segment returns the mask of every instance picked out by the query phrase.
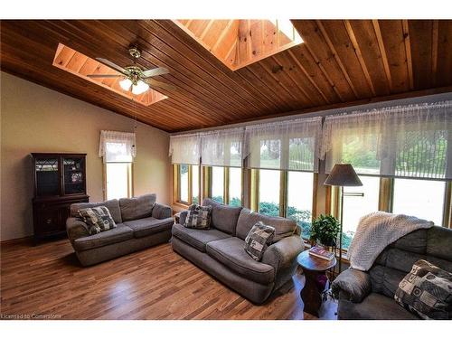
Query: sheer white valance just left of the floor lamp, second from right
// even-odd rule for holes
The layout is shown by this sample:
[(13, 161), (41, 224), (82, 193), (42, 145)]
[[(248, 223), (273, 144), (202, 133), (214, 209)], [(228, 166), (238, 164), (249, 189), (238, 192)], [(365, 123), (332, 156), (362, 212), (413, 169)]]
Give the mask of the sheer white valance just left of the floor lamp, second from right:
[(246, 127), (249, 168), (318, 172), (322, 118), (298, 118)]

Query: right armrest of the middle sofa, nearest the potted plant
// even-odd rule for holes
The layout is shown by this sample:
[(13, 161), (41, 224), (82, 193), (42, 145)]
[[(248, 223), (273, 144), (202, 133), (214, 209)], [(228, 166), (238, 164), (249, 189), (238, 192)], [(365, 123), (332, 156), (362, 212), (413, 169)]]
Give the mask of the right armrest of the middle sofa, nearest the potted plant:
[(294, 265), (298, 254), (303, 250), (305, 250), (303, 240), (298, 235), (292, 235), (268, 246), (262, 257), (262, 262), (275, 268), (277, 274), (281, 268)]

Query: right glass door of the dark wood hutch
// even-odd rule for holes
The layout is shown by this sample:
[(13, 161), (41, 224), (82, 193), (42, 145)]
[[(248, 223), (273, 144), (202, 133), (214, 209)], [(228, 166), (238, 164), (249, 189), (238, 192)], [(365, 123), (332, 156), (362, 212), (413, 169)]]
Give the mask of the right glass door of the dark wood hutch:
[(85, 160), (82, 157), (62, 158), (64, 194), (85, 192), (84, 166)]

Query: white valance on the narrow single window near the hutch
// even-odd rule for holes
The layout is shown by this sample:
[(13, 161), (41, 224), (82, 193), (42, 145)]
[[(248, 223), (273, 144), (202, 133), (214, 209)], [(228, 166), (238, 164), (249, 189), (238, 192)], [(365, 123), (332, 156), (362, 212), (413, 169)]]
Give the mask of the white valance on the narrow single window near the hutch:
[(136, 155), (135, 133), (100, 131), (99, 156), (104, 163), (132, 163)]

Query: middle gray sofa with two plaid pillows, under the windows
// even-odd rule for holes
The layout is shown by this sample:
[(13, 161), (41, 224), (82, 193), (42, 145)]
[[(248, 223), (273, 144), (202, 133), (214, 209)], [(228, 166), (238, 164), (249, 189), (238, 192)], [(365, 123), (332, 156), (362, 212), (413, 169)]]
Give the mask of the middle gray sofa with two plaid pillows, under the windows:
[[(204, 199), (202, 204), (212, 206), (211, 229), (185, 228), (187, 212), (181, 212), (180, 223), (173, 226), (174, 251), (255, 304), (266, 301), (292, 278), (297, 255), (304, 250), (296, 221), (226, 206), (211, 199)], [(257, 221), (276, 229), (273, 243), (261, 261), (251, 259), (244, 250), (244, 240)]]

